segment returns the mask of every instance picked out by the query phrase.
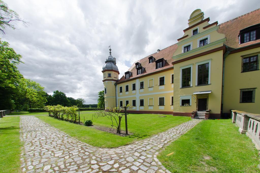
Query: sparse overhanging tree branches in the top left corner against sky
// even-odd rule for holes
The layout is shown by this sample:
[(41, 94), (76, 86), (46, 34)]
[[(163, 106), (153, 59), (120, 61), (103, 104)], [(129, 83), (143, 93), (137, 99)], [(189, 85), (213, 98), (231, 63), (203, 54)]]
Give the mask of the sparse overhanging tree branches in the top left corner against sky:
[(20, 18), (20, 16), (13, 10), (9, 9), (7, 4), (0, 0), (0, 32), (5, 34), (5, 28), (9, 27), (16, 29), (17, 22), (22, 22), (25, 25), (28, 23)]

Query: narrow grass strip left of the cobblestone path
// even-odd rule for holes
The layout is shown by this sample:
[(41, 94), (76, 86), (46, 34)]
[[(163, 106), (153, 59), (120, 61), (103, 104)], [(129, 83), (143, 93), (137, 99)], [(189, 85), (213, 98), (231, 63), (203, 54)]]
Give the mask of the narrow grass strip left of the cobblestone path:
[(20, 117), (0, 119), (0, 172), (20, 172)]

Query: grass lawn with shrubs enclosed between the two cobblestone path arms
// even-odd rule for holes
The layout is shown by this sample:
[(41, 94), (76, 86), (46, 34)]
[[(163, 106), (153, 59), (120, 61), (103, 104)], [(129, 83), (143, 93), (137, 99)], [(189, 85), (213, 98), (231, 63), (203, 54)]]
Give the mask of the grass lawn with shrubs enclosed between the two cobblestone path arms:
[[(81, 120), (92, 119), (92, 113), (81, 114)], [(55, 119), (50, 116), (37, 116), (37, 118), (47, 122), (72, 137), (86, 142), (92, 146), (113, 148), (133, 143), (136, 140), (145, 139), (154, 134), (163, 132), (169, 128), (177, 126), (183, 122), (189, 121), (190, 117), (166, 115), (166, 117), (158, 117), (155, 114), (129, 114), (128, 132), (133, 133), (126, 137), (118, 136), (108, 132), (96, 130), (91, 127), (80, 126), (78, 124)], [(111, 120), (107, 117), (99, 117), (93, 119), (93, 124), (99, 126), (111, 127)], [(125, 130), (125, 119), (122, 118), (122, 130)]]

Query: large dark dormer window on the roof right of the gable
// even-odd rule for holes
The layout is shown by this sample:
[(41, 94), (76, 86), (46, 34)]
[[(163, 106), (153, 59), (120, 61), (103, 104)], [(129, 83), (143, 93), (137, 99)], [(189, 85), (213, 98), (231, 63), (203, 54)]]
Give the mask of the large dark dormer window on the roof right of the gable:
[(260, 39), (260, 24), (247, 27), (239, 33), (240, 44)]

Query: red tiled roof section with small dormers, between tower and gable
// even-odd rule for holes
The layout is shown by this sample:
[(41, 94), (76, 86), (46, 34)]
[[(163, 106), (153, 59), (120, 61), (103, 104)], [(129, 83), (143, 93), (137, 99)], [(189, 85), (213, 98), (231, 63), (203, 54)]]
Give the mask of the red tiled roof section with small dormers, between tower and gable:
[[(172, 55), (176, 51), (177, 47), (178, 47), (177, 44), (171, 45), (169, 47), (166, 47), (165, 49), (160, 50), (159, 52), (153, 53), (153, 54), (151, 54), (151, 55), (149, 55), (149, 56), (147, 56), (143, 59), (140, 59), (139, 61), (136, 61), (135, 63), (139, 62), (141, 64), (141, 66), (145, 68), (143, 73), (137, 75), (137, 71), (136, 71), (135, 63), (134, 63), (132, 65), (132, 67), (130, 67), (129, 70), (128, 70), (128, 71), (132, 72), (132, 75), (130, 76), (130, 78), (125, 79), (125, 75), (123, 75), (121, 77), (121, 79), (119, 79), (116, 83), (118, 84), (118, 83), (121, 83), (123, 81), (128, 81), (128, 80), (131, 80), (131, 79), (136, 78), (136, 77), (144, 76), (144, 75), (149, 74), (149, 73), (162, 71), (162, 70), (165, 70), (167, 68), (173, 67), (173, 65), (172, 65), (172, 62), (173, 62)], [(152, 63), (149, 63), (149, 57), (151, 57), (151, 56), (153, 56), (155, 58), (155, 60)], [(166, 60), (164, 67), (155, 69), (155, 61), (158, 60), (158, 59), (161, 59), (161, 58), (164, 58), (164, 60)]]

